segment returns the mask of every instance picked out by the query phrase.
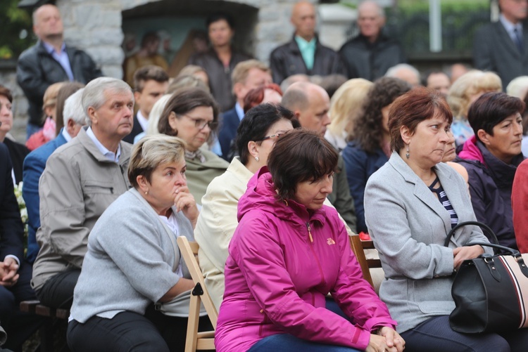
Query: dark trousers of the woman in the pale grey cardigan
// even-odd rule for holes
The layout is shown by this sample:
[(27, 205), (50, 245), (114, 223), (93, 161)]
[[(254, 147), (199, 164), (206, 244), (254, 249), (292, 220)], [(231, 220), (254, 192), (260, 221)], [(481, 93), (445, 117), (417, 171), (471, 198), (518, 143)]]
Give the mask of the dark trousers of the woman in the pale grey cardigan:
[[(213, 330), (207, 316), (200, 318), (199, 331)], [(68, 346), (73, 352), (159, 351), (183, 352), (187, 318), (171, 317), (147, 308), (145, 315), (118, 313), (112, 319), (89, 318), (84, 324), (68, 324)]]

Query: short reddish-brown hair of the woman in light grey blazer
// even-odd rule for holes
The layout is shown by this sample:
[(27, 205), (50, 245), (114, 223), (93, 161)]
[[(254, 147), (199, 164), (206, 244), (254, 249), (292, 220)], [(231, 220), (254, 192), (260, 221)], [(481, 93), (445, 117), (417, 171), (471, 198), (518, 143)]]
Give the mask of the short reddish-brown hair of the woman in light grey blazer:
[(444, 96), (435, 89), (417, 87), (394, 100), (389, 111), (389, 133), (391, 133), (391, 149), (399, 152), (405, 145), (400, 129), (406, 126), (410, 133), (416, 131), (416, 126), (426, 119), (438, 116), (453, 122), (453, 114)]

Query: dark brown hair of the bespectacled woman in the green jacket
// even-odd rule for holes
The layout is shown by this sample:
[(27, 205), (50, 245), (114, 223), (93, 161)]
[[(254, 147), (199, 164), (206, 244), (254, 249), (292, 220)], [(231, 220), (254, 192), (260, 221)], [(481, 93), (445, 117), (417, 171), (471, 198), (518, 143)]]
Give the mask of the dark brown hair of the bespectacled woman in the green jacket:
[[(218, 122), (218, 105), (216, 105), (215, 99), (210, 93), (200, 88), (189, 88), (184, 90), (178, 90), (172, 94), (165, 109), (161, 113), (160, 122), (158, 122), (158, 131), (168, 136), (177, 136), (177, 129), (172, 129), (169, 123), (170, 112), (176, 114), (177, 119), (181, 119), (182, 115), (193, 110), (196, 107), (210, 106), (213, 107), (213, 122)], [(216, 133), (218, 130), (218, 124), (215, 129), (211, 129), (210, 136)]]

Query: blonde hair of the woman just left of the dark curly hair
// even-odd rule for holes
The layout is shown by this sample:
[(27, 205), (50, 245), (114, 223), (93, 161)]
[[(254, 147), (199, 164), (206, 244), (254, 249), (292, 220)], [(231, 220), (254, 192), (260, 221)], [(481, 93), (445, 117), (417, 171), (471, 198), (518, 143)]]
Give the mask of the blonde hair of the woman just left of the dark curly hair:
[(363, 102), (372, 86), (372, 82), (363, 78), (348, 79), (330, 99), (329, 116), (332, 122), (328, 126), (330, 133), (339, 136), (342, 131), (350, 133), (353, 119), (361, 111)]

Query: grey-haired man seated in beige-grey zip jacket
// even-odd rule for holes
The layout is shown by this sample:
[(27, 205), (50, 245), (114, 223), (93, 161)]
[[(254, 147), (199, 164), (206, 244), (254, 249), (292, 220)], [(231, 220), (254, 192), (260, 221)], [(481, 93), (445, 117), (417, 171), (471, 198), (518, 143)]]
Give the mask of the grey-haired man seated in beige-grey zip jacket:
[(40, 251), (32, 287), (43, 304), (69, 308), (90, 230), (103, 211), (130, 188), (127, 167), (134, 96), (120, 79), (87, 84), (82, 108), (91, 126), (49, 157), (39, 181)]

